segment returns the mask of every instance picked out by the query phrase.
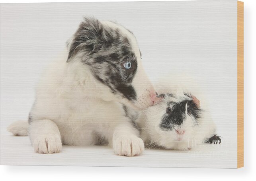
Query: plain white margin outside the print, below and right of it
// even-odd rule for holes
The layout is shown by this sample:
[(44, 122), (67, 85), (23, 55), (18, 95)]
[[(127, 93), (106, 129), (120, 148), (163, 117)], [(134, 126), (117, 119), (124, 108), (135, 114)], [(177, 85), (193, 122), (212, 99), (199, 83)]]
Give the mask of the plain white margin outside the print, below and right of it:
[[(252, 3), (250, 5), (250, 3)], [(30, 166), (1, 166), (1, 177), (4, 175), (12, 175), (10, 177), (16, 177), (16, 179), (24, 179), (28, 180), (28, 177), (34, 175), (34, 178), (37, 180), (45, 180), (54, 177), (54, 179), (59, 179), (59, 177), (63, 177), (65, 179), (74, 179), (74, 177), (78, 176), (76, 179), (94, 179), (95, 177), (102, 177), (102, 179), (106, 179), (106, 176), (109, 175), (113, 179), (114, 177), (121, 177), (120, 179), (131, 180), (131, 179), (145, 179), (145, 177), (149, 177), (150, 179), (184, 179), (183, 177), (187, 177), (186, 179), (195, 178), (199, 180), (199, 178), (207, 179), (207, 180), (215, 180), (216, 177), (220, 177), (222, 179), (245, 179), (245, 177), (252, 175), (252, 165), (254, 163), (254, 155), (251, 150), (255, 150), (255, 146), (253, 143), (252, 132), (253, 127), (255, 127), (255, 123), (252, 120), (252, 113), (254, 111), (254, 102), (255, 97), (252, 95), (255, 91), (255, 87), (253, 87), (253, 76), (255, 76), (255, 71), (253, 68), (255, 67), (255, 63), (253, 62), (253, 47), (252, 43), (255, 43), (255, 35), (252, 34), (255, 31), (255, 27), (253, 27), (253, 19), (255, 20), (255, 12), (253, 8), (255, 4), (253, 1), (245, 1), (244, 4), (244, 145), (245, 145), (245, 167), (242, 169), (174, 169), (174, 168), (120, 168), (120, 167), (30, 167)], [(253, 14), (254, 13), (254, 14)], [(254, 16), (254, 17), (253, 17)], [(255, 45), (254, 45), (255, 46)], [(255, 57), (254, 57), (255, 59)], [(254, 64), (253, 64), (254, 63)], [(253, 125), (254, 124), (254, 125)], [(19, 173), (19, 174), (18, 174)], [(187, 174), (184, 174), (187, 173)], [(24, 175), (20, 175), (24, 174)], [(35, 175), (36, 174), (36, 175)], [(7, 176), (6, 175), (6, 176)], [(16, 175), (16, 176), (14, 176)], [(19, 175), (19, 176), (18, 176)], [(45, 175), (45, 177), (44, 177)], [(196, 175), (196, 177), (195, 177)], [(234, 178), (231, 178), (234, 177)], [(51, 179), (50, 179), (51, 180)]]

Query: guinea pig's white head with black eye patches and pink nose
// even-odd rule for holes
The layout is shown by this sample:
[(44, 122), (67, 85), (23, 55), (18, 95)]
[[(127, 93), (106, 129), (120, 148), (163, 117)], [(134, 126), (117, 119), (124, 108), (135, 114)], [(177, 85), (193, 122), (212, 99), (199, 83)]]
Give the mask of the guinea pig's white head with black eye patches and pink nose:
[(199, 100), (190, 93), (158, 95), (158, 101), (145, 110), (151, 142), (167, 149), (190, 149), (202, 111), (199, 106)]

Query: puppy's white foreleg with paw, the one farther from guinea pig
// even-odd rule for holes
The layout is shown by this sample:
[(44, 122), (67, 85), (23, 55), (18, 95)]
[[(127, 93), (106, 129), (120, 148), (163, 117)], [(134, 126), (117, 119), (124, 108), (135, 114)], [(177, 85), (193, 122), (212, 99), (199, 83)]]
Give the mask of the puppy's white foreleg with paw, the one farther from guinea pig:
[(49, 119), (32, 121), (29, 125), (29, 136), (37, 153), (51, 154), (61, 151), (59, 128)]

